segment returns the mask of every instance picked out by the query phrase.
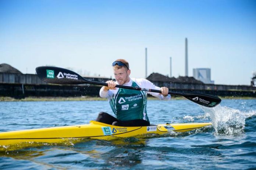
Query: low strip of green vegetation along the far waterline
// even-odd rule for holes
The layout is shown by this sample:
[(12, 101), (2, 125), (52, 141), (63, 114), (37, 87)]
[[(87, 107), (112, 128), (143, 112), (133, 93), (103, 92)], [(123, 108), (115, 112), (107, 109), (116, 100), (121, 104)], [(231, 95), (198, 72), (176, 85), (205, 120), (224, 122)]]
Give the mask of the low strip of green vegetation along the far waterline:
[[(255, 99), (256, 97), (234, 97), (234, 96), (225, 96), (220, 97), (221, 99), (235, 99), (235, 100), (249, 100)], [(0, 97), (0, 101), (103, 101), (107, 100), (106, 98), (101, 97), (90, 97), (90, 96), (81, 96), (81, 97), (25, 97), (25, 98), (13, 98), (13, 97)], [(155, 97), (149, 96), (148, 100), (158, 100)], [(171, 100), (185, 100), (184, 97), (172, 96)]]

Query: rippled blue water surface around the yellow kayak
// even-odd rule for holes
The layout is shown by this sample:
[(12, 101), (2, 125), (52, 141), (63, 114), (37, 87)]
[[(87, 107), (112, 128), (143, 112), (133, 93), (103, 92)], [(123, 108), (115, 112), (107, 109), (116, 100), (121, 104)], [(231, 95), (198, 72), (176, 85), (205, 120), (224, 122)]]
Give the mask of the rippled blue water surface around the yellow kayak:
[[(87, 124), (111, 113), (107, 101), (0, 102), (0, 132)], [(149, 100), (150, 123), (212, 122), (188, 133), (84, 139), (0, 152), (0, 169), (256, 169), (256, 100), (205, 108), (188, 100)]]

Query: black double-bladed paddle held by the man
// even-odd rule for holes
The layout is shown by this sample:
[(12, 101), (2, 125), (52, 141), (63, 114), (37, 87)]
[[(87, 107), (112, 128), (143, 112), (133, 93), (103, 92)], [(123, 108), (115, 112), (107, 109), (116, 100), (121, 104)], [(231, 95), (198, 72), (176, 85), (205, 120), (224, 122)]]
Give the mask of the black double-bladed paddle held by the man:
[[(53, 84), (96, 84), (101, 86), (108, 86), (107, 83), (103, 82), (95, 82), (86, 80), (82, 76), (78, 75), (77, 73), (64, 69), (64, 68), (58, 68), (53, 66), (41, 66), (36, 68), (36, 73), (38, 77), (46, 82), (46, 83), (53, 83)], [(161, 93), (160, 90), (154, 90), (154, 89), (146, 89), (146, 88), (140, 88), (140, 87), (131, 87), (131, 86), (123, 86), (123, 85), (117, 85), (116, 87), (119, 88), (127, 88), (132, 90), (139, 90), (139, 91), (150, 91), (150, 92), (156, 92)], [(209, 108), (212, 108), (218, 104), (220, 104), (221, 99), (208, 94), (190, 94), (190, 93), (178, 93), (169, 91), (168, 94), (171, 95), (178, 95), (185, 97), (186, 99), (195, 102), (199, 105), (206, 106)]]

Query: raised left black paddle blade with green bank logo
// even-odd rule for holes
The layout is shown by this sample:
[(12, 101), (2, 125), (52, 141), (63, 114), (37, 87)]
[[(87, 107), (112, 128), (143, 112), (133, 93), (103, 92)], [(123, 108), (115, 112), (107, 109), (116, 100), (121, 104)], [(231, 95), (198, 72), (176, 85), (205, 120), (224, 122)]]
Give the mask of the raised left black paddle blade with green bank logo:
[(53, 84), (85, 84), (86, 80), (77, 73), (63, 68), (53, 66), (41, 66), (36, 68), (38, 77)]

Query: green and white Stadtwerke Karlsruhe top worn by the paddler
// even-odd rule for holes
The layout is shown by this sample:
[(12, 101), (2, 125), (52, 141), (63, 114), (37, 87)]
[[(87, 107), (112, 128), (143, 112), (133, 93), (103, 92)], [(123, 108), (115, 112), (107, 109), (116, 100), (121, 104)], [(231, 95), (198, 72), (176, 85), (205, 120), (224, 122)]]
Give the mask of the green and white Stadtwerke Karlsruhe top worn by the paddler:
[[(115, 83), (118, 84), (117, 82)], [(155, 86), (153, 83), (146, 79), (131, 78), (128, 83), (123, 85), (161, 90), (160, 87)], [(143, 119), (149, 122), (146, 109), (147, 93), (159, 98), (160, 100), (170, 100), (171, 98), (170, 94), (164, 97), (160, 93), (124, 88), (117, 88), (116, 90), (109, 91), (104, 91), (103, 87), (100, 89), (100, 97), (107, 98), (109, 100), (112, 111), (120, 121)]]

